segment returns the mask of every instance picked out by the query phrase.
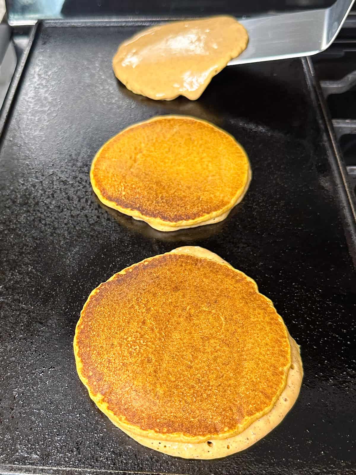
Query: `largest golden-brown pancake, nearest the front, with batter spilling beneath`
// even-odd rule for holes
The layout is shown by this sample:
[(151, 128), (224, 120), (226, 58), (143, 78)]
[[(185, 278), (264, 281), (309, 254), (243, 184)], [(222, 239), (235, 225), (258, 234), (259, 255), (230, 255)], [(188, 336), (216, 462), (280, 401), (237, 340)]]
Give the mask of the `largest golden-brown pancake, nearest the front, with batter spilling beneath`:
[(272, 430), (302, 365), (255, 282), (201, 247), (134, 264), (89, 295), (76, 368), (99, 409), (142, 445), (222, 457)]

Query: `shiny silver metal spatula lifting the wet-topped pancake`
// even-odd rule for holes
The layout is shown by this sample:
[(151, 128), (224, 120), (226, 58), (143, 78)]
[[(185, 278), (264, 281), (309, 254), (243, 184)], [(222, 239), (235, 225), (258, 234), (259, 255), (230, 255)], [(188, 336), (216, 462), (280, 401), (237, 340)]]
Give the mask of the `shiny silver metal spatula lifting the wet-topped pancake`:
[(331, 7), (239, 20), (249, 35), (245, 51), (229, 65), (255, 63), (323, 51), (337, 36), (355, 0), (337, 0)]

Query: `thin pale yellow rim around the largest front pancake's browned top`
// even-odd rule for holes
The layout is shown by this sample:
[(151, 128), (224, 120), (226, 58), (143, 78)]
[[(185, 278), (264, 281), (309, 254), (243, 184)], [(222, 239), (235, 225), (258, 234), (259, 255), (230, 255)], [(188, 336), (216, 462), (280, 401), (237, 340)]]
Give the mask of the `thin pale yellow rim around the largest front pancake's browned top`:
[[(76, 364), (76, 370), (77, 370), (79, 379), (83, 382), (84, 386), (88, 390), (90, 398), (94, 401), (96, 406), (112, 421), (112, 423), (116, 427), (122, 429), (124, 432), (129, 431), (131, 434), (135, 434), (136, 436), (147, 437), (147, 438), (154, 439), (154, 440), (159, 440), (159, 441), (164, 440), (164, 441), (170, 441), (170, 442), (181, 442), (181, 443), (183, 442), (183, 443), (191, 443), (191, 444), (196, 444), (196, 443), (199, 443), (199, 442), (206, 442), (208, 440), (222, 440), (222, 439), (226, 439), (228, 437), (236, 436), (236, 435), (240, 434), (241, 432), (243, 432), (246, 428), (248, 428), (255, 420), (257, 420), (257, 419), (261, 418), (263, 415), (267, 414), (272, 409), (272, 407), (274, 406), (276, 400), (280, 397), (281, 392), (284, 390), (284, 388), (286, 386), (287, 376), (288, 376), (288, 372), (290, 370), (290, 364), (291, 364), (290, 345), (289, 345), (289, 357), (288, 357), (289, 364), (284, 368), (285, 379), (284, 379), (283, 384), (280, 387), (280, 390), (277, 391), (277, 394), (276, 394), (275, 398), (272, 400), (272, 403), (270, 404), (270, 406), (268, 406), (264, 410), (260, 411), (259, 413), (256, 413), (253, 417), (247, 418), (247, 421), (243, 422), (242, 424), (239, 424), (237, 428), (231, 429), (227, 432), (219, 433), (219, 434), (207, 434), (207, 435), (204, 435), (204, 436), (200, 436), (200, 435), (192, 436), (192, 435), (189, 435), (189, 434), (178, 433), (178, 432), (169, 433), (169, 434), (162, 434), (162, 433), (158, 433), (158, 432), (156, 432), (155, 430), (152, 430), (152, 429), (146, 430), (146, 429), (140, 428), (139, 426), (135, 426), (135, 425), (131, 424), (124, 416), (115, 415), (112, 412), (112, 410), (110, 410), (108, 408), (108, 404), (106, 402), (103, 402), (103, 397), (104, 396), (100, 393), (94, 394), (92, 392), (91, 388), (90, 388), (90, 384), (89, 384), (88, 380), (81, 373), (81, 369), (83, 367), (83, 364), (82, 364), (82, 361), (81, 361), (81, 359), (79, 357), (79, 354), (78, 354), (79, 346), (78, 346), (78, 343), (77, 343), (77, 336), (78, 336), (78, 333), (79, 333), (79, 327), (80, 327), (81, 320), (82, 320), (82, 314), (84, 313), (86, 305), (89, 303), (91, 297), (99, 291), (100, 287), (103, 284), (115, 279), (115, 277), (117, 275), (122, 275), (122, 274), (124, 275), (124, 274), (126, 274), (127, 271), (130, 271), (130, 269), (132, 267), (138, 266), (138, 265), (140, 265), (144, 262), (149, 262), (149, 261), (151, 261), (155, 258), (159, 258), (159, 257), (162, 257), (162, 256), (167, 255), (167, 254), (183, 254), (183, 255), (188, 254), (188, 255), (198, 257), (198, 258), (201, 258), (201, 259), (208, 259), (208, 260), (218, 262), (219, 264), (221, 264), (223, 266), (228, 266), (229, 268), (233, 269), (234, 272), (244, 276), (244, 278), (247, 281), (251, 282), (254, 286), (254, 289), (255, 289), (256, 293), (260, 294), (260, 292), (258, 291), (258, 286), (257, 286), (256, 282), (251, 277), (244, 274), (244, 272), (242, 272), (238, 269), (235, 269), (233, 266), (231, 266), (229, 263), (227, 263), (221, 257), (217, 256), (215, 253), (213, 253), (213, 252), (211, 252), (211, 251), (209, 251), (209, 250), (207, 250), (203, 247), (199, 247), (199, 246), (178, 247), (176, 249), (173, 249), (170, 252), (167, 252), (167, 253), (164, 253), (164, 254), (159, 254), (159, 255), (156, 255), (156, 256), (153, 256), (153, 257), (148, 257), (148, 258), (143, 259), (142, 261), (140, 261), (138, 263), (135, 263), (131, 266), (125, 267), (124, 269), (122, 269), (122, 271), (117, 272), (116, 274), (111, 276), (107, 281), (99, 284), (97, 287), (94, 288), (94, 290), (88, 296), (88, 298), (87, 298), (87, 300), (86, 300), (86, 302), (83, 306), (83, 309), (80, 313), (80, 318), (79, 318), (79, 320), (76, 324), (76, 327), (75, 327), (75, 336), (74, 336), (74, 341), (73, 341), (73, 348), (74, 348), (74, 354), (75, 354), (75, 364)], [(260, 295), (262, 295), (262, 294), (260, 294)], [(262, 296), (264, 297), (265, 301), (268, 304), (270, 304), (272, 306), (272, 308), (275, 310), (275, 307), (274, 307), (272, 301), (268, 297), (266, 297), (265, 295), (262, 295)], [(289, 333), (288, 333), (287, 327), (286, 327), (285, 323), (283, 322), (283, 319), (281, 318), (281, 316), (277, 313), (277, 311), (276, 311), (276, 314), (279, 317), (281, 323), (283, 324), (286, 337), (289, 340), (289, 338), (288, 338)]]

